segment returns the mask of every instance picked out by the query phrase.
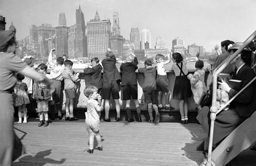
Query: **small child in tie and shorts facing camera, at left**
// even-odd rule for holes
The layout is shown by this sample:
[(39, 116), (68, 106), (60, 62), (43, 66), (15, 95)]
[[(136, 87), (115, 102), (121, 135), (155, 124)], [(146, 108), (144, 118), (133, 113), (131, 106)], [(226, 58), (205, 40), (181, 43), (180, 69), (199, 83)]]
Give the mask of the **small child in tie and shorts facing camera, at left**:
[[(37, 112), (39, 112), (39, 120), (40, 123), (38, 127), (41, 126), (48, 126), (49, 121), (48, 121), (48, 101), (51, 100), (52, 95), (50, 94), (50, 90), (46, 89), (46, 84), (40, 82), (39, 88), (35, 91), (34, 93), (34, 99), (37, 100)], [(45, 122), (43, 121), (43, 115), (45, 118)]]

